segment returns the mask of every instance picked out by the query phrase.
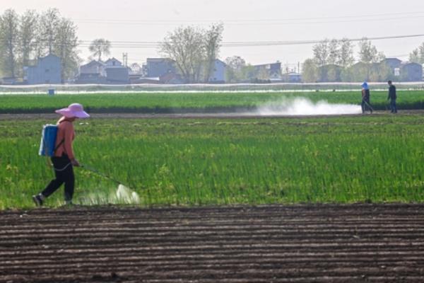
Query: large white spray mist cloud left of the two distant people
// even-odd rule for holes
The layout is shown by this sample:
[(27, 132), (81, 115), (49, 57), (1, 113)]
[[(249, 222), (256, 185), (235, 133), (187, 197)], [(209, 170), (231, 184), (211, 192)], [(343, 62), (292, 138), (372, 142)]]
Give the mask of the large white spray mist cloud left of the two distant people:
[(307, 98), (283, 99), (265, 103), (257, 110), (259, 115), (352, 115), (360, 114), (360, 105), (330, 104), (325, 100), (317, 103)]

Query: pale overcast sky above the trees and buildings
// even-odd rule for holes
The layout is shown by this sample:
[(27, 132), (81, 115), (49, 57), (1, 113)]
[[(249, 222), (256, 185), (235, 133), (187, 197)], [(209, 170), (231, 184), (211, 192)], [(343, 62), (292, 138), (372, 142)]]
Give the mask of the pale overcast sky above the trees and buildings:
[[(423, 0), (0, 0), (0, 11), (13, 8), (39, 12), (59, 8), (78, 25), (80, 40), (103, 37), (112, 42), (112, 56), (129, 63), (158, 57), (157, 48), (134, 48), (119, 41), (159, 42), (179, 25), (223, 22), (223, 42), (324, 40), (324, 38), (387, 37), (424, 33)], [(375, 40), (387, 57), (408, 59), (424, 37)], [(355, 50), (355, 56), (357, 55)], [(251, 64), (297, 64), (312, 57), (312, 45), (223, 47), (220, 59), (232, 55)], [(87, 59), (88, 47), (81, 47)]]

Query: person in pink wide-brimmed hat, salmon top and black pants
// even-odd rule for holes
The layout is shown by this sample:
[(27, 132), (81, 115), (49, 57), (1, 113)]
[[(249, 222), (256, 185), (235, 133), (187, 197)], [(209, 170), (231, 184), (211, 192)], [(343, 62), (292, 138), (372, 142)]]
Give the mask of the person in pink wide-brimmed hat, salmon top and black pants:
[(62, 184), (65, 184), (65, 202), (66, 204), (72, 204), (75, 184), (73, 166), (80, 166), (73, 154), (72, 144), (75, 138), (75, 132), (73, 131), (72, 123), (78, 118), (90, 117), (83, 110), (83, 105), (79, 103), (72, 103), (68, 108), (62, 108), (55, 112), (62, 115), (57, 121), (56, 145), (54, 156), (51, 158), (55, 178), (45, 187), (45, 190), (38, 195), (33, 195), (33, 200), (37, 206), (42, 206), (45, 199), (59, 189)]

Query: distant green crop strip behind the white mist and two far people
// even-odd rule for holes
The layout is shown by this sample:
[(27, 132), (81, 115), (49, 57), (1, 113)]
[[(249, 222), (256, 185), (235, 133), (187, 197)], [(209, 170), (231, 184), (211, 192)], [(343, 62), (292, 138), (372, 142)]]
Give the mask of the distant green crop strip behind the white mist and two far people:
[[(424, 109), (424, 91), (399, 91), (399, 109)], [(293, 93), (107, 93), (3, 95), (0, 113), (53, 112), (71, 103), (82, 103), (88, 112), (196, 112), (250, 110), (270, 102), (308, 98), (313, 102), (359, 105), (360, 91), (352, 92), (293, 92)], [(371, 103), (375, 109), (388, 108), (387, 92), (373, 91)]]

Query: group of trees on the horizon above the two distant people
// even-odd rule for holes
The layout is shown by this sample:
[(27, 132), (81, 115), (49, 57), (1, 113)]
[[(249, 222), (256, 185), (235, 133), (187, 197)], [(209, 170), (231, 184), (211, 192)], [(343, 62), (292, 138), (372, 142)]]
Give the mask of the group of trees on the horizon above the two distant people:
[(389, 67), (379, 64), (385, 58), (370, 40), (358, 43), (359, 64), (355, 64), (353, 42), (348, 39), (324, 40), (312, 48), (314, 57), (306, 59), (302, 68), (305, 82), (316, 81), (383, 81), (391, 76)]

